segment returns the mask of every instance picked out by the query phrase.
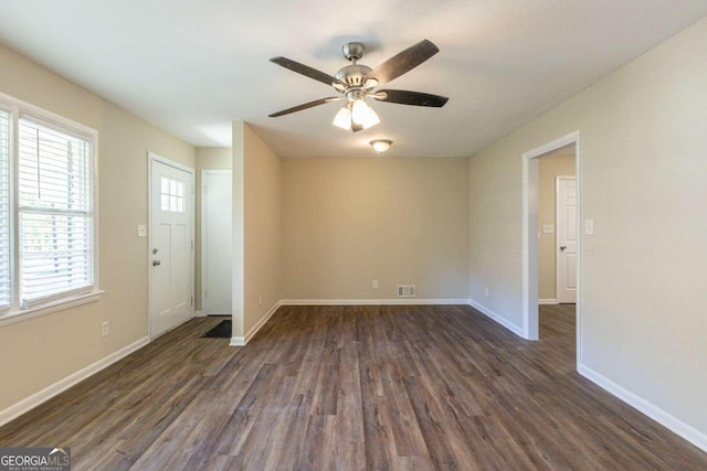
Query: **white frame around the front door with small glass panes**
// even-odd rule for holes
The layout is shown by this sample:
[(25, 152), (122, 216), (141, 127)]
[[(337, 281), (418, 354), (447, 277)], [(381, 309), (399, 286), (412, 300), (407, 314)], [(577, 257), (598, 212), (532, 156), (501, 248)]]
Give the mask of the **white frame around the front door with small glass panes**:
[(152, 306), (152, 290), (151, 290), (151, 277), (150, 277), (150, 247), (152, 246), (152, 162), (159, 162), (165, 165), (173, 167), (175, 169), (182, 170), (191, 175), (191, 318), (194, 317), (194, 169), (187, 167), (182, 163), (175, 162), (166, 157), (159, 156), (155, 152), (147, 152), (147, 335), (150, 340), (152, 336), (151, 325), (151, 306)]

